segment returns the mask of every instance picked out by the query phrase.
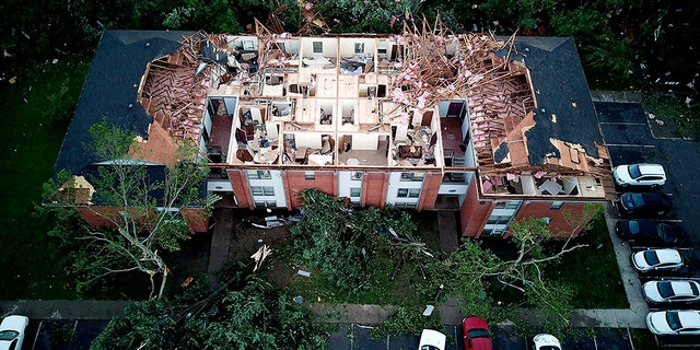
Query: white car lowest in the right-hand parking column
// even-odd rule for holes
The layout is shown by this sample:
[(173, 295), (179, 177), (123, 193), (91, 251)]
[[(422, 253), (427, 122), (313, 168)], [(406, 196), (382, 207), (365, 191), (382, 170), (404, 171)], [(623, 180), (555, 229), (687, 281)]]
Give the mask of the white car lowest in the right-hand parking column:
[(655, 335), (700, 335), (700, 311), (651, 312), (646, 314), (646, 326)]

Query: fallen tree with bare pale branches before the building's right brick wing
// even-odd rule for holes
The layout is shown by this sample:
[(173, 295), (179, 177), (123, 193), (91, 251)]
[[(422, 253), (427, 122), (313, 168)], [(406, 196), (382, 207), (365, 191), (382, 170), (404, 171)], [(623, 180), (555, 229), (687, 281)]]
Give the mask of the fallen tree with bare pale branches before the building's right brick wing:
[[(576, 232), (585, 229), (602, 211), (597, 203), (585, 205), (581, 213), (564, 211), (571, 231), (559, 232), (556, 236), (540, 218), (514, 221), (509, 226), (514, 248), (506, 256), (494, 254), (478, 241), (465, 240), (447, 259), (431, 261), (427, 267), (429, 280), (418, 287), (419, 299), (439, 303), (443, 301), (441, 298), (455, 295), (460, 310), (468, 314), (508, 317), (516, 323), (527, 323), (518, 313), (533, 308), (548, 331), (561, 335), (573, 314), (574, 291), (571, 285), (548, 278), (548, 270), (556, 268), (564, 254), (586, 246), (573, 243)], [(492, 292), (498, 289), (518, 302), (506, 305), (494, 300)], [(503, 313), (497, 315), (499, 311)]]

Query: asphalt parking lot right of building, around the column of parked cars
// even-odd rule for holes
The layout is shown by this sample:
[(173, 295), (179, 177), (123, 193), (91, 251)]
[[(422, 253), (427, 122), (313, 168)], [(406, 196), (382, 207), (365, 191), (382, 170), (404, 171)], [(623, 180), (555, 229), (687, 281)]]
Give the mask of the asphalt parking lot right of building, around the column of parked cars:
[[(656, 189), (666, 194), (673, 201), (673, 209), (664, 215), (653, 218), (655, 221), (669, 223), (679, 230), (678, 241), (670, 247), (679, 250), (684, 267), (674, 271), (655, 271), (639, 273), (642, 283), (660, 279), (695, 279), (700, 281), (700, 200), (695, 192), (700, 184), (698, 176), (700, 151), (692, 140), (654, 137), (658, 124), (649, 118), (639, 104), (598, 103), (600, 130), (608, 147), (612, 166), (632, 163), (656, 163), (664, 166), (667, 180)], [(619, 191), (649, 191), (640, 188), (618, 188)], [(619, 194), (618, 194), (619, 195)], [(622, 212), (617, 212), (627, 219)], [(652, 218), (640, 218), (652, 219)], [(658, 247), (655, 245), (630, 243), (632, 252)], [(641, 293), (641, 291), (640, 291)], [(650, 304), (651, 311), (672, 308), (700, 308), (700, 303)], [(700, 345), (697, 336), (657, 337), (660, 346), (696, 346)]]

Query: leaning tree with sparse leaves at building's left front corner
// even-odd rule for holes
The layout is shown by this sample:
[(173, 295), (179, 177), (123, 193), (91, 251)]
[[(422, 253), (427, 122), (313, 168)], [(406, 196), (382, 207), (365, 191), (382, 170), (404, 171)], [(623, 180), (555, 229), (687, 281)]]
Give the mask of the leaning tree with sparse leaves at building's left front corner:
[[(61, 172), (45, 186), (49, 202), (60, 211), (49, 234), (74, 247), (70, 258), (79, 293), (104, 277), (140, 271), (149, 278), (150, 298), (160, 298), (170, 273), (161, 253), (176, 252), (189, 238), (182, 209), (196, 208), (205, 218), (211, 207), (212, 198), (199, 192), (208, 168), (195, 163), (188, 147), (180, 147), (172, 166), (127, 158), (139, 153), (136, 133), (104, 121), (90, 133), (90, 150), (100, 160), (95, 172), (81, 178)], [(89, 200), (77, 198), (85, 196), (84, 187), (91, 187)], [(102, 224), (77, 219), (77, 209)]]

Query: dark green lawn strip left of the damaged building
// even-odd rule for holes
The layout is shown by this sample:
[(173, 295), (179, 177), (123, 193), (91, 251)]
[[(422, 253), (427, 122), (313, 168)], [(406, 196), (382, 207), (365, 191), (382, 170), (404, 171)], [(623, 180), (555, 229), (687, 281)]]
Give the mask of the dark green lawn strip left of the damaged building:
[[(67, 121), (55, 122), (52, 112), (57, 104), (75, 105), (89, 67), (89, 62), (44, 63), (0, 90), (3, 130), (8, 130), (0, 141), (4, 168), (0, 175), (0, 264), (5, 271), (0, 300), (75, 298), (66, 288), (62, 254), (46, 235), (51, 223), (34, 217), (33, 211), (66, 133)], [(61, 86), (66, 86), (63, 94)]]

